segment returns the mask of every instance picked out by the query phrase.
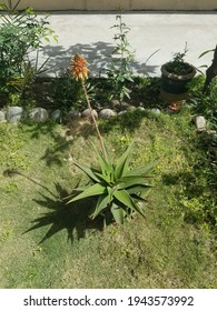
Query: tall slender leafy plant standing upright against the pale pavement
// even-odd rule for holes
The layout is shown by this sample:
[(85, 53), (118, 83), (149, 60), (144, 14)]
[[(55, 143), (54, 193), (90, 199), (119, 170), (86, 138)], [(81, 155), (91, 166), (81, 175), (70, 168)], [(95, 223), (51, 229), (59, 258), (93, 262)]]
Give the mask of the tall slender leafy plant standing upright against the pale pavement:
[(109, 98), (118, 98), (121, 102), (126, 97), (130, 98), (130, 90), (127, 88), (127, 83), (134, 82), (131, 61), (134, 60), (135, 53), (131, 51), (127, 38), (130, 29), (122, 21), (121, 14), (116, 16), (116, 20), (118, 23), (111, 28), (118, 31), (114, 37), (117, 44), (111, 53), (111, 62), (110, 68), (107, 69), (107, 77), (112, 88)]

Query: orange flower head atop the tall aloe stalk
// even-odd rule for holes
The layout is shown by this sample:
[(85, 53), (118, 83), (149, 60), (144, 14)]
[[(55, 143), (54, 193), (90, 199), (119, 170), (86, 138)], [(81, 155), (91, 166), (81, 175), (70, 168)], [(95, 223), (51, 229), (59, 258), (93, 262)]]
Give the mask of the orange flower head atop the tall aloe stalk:
[(86, 80), (88, 79), (88, 71), (87, 61), (79, 54), (76, 53), (71, 61), (71, 72), (76, 80)]

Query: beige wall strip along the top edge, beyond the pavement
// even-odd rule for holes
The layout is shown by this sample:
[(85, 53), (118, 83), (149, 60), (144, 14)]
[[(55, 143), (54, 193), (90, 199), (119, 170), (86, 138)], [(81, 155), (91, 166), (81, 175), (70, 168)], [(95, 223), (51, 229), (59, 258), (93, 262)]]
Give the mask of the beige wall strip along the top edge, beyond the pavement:
[(217, 0), (22, 0), (20, 8), (26, 7), (36, 10), (117, 10), (119, 7), (126, 10), (217, 10)]

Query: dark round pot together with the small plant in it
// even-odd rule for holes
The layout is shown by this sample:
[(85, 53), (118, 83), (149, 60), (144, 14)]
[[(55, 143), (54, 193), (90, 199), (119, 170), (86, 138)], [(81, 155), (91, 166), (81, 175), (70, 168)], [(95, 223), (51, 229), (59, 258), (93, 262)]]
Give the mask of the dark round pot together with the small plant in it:
[(188, 82), (196, 74), (193, 64), (185, 61), (187, 44), (184, 52), (174, 54), (174, 59), (161, 67), (161, 89), (160, 93), (166, 101), (179, 101), (188, 96)]

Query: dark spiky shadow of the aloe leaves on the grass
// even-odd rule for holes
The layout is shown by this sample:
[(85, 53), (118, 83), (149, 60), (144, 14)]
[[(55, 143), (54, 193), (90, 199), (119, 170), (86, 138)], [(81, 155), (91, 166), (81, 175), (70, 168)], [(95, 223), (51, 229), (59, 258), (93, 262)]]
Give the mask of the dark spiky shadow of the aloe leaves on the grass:
[(41, 200), (33, 200), (37, 204), (49, 211), (34, 219), (32, 221), (33, 224), (23, 233), (50, 225), (46, 235), (40, 240), (40, 244), (62, 230), (67, 231), (68, 241), (71, 243), (75, 240), (85, 238), (87, 230), (102, 231), (102, 220), (91, 220), (89, 218), (93, 200), (80, 200), (68, 204), (69, 199), (67, 198), (69, 193), (59, 183), (56, 183), (56, 190), (58, 195), (50, 197), (40, 193)]

